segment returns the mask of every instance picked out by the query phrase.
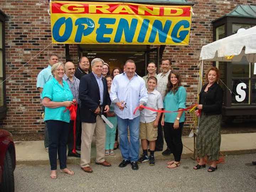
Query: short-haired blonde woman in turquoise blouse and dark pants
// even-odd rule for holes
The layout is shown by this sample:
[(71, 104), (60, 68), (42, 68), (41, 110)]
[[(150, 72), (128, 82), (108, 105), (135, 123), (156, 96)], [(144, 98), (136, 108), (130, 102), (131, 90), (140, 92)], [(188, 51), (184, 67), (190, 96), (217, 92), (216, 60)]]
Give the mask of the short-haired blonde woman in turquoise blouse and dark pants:
[[(66, 107), (75, 101), (67, 82), (62, 80), (65, 74), (64, 65), (56, 63), (52, 66), (54, 78), (43, 87), (42, 104), (45, 106), (44, 121), (47, 122), (49, 136), (50, 177), (57, 178), (57, 152), (62, 172), (74, 175), (66, 167), (66, 143), (68, 141), (70, 114)], [(65, 111), (65, 112), (64, 112)]]

